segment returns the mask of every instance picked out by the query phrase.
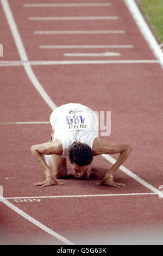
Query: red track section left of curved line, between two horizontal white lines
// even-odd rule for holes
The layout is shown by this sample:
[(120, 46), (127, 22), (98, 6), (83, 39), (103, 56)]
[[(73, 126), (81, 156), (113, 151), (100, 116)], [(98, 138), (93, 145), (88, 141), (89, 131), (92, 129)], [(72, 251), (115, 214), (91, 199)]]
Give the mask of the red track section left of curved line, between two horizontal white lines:
[(0, 72), (0, 122), (49, 121), (51, 109), (29, 81), (24, 68), (5, 66)]

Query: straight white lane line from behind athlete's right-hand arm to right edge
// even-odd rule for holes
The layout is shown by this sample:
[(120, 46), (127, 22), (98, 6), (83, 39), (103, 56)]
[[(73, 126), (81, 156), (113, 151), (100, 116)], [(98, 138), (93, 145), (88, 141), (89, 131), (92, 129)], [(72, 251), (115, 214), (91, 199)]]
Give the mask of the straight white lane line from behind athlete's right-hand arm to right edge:
[[(115, 159), (113, 159), (110, 155), (102, 155), (106, 160), (108, 160), (109, 162), (111, 162), (112, 164), (114, 164), (116, 162)], [(145, 180), (141, 179), (139, 176), (137, 176), (136, 174), (132, 173), (129, 169), (127, 169), (124, 166), (120, 166), (119, 169), (121, 169), (124, 173), (128, 174), (131, 178), (133, 178), (134, 180), (136, 180), (137, 182), (139, 182), (140, 184), (142, 184), (143, 186), (147, 187), (149, 190), (151, 190), (152, 192), (156, 193), (156, 194), (160, 194), (160, 196), (163, 197), (163, 192), (161, 192), (160, 190), (158, 190), (157, 188), (153, 187), (151, 184), (149, 184), (148, 182), (146, 182)]]

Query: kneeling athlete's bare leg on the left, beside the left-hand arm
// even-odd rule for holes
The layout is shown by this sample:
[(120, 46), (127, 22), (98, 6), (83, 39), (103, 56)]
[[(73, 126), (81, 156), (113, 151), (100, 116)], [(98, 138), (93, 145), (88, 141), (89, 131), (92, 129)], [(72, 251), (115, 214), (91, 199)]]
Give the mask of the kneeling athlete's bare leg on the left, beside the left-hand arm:
[(66, 167), (66, 159), (58, 156), (58, 155), (52, 155), (51, 156), (51, 166), (53, 170), (53, 174), (55, 178), (60, 179), (63, 178), (67, 173), (67, 167)]

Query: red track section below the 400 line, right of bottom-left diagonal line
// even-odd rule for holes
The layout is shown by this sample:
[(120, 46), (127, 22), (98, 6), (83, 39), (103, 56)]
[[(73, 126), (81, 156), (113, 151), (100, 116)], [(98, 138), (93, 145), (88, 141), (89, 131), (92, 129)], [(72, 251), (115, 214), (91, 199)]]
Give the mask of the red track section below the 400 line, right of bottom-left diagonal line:
[[(121, 237), (121, 241), (123, 241), (125, 236), (136, 236), (137, 230), (142, 236), (147, 230), (148, 234), (151, 232), (156, 233), (156, 230), (158, 234), (162, 227), (160, 214), (162, 204), (157, 196), (135, 196), (134, 198), (128, 198), (128, 200), (125, 196), (107, 199), (94, 198), (93, 200), (92, 198), (68, 198), (67, 201), (59, 198), (46, 199), (46, 201), (44, 199), (40, 202), (32, 203), (14, 202), (14, 204), (24, 212), (28, 212), (37, 221), (45, 223), (46, 227), (51, 227), (52, 230), (62, 236), (68, 237), (68, 240), (73, 241), (76, 245), (110, 245), (112, 235), (115, 236), (116, 234), (116, 237), (118, 237), (123, 234), (123, 238)], [(46, 207), (47, 204), (48, 209)], [(139, 208), (137, 208), (137, 204), (139, 204)], [(144, 205), (146, 205), (148, 211), (146, 211), (146, 214), (140, 215), (140, 211), (144, 211)], [(41, 214), (37, 211), (38, 208), (41, 209)], [(155, 208), (159, 209), (159, 211), (153, 212), (153, 219), (151, 220), (151, 211)], [(65, 214), (62, 215), (61, 212)], [(114, 218), (111, 216), (114, 216)], [(157, 223), (155, 220), (157, 220)], [(29, 231), (27, 230), (27, 232)], [(43, 239), (44, 235), (42, 234)], [(38, 231), (36, 236), (38, 236)], [(29, 241), (30, 244), (39, 243), (39, 241)], [(143, 241), (145, 239), (141, 243)], [(52, 239), (49, 238), (48, 240), (45, 235), (45, 240), (42, 240), (42, 244), (46, 242), (51, 244)], [(116, 242), (118, 242), (118, 239), (112, 241), (112, 243)], [(127, 242), (129, 243), (129, 239)], [(26, 241), (24, 243), (26, 244)], [(135, 243), (136, 240), (134, 240)]]

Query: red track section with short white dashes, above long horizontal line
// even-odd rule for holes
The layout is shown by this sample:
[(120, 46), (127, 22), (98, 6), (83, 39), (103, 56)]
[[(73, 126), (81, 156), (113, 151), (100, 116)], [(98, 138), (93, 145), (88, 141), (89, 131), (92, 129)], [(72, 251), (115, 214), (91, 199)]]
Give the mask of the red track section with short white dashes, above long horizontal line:
[[(37, 1), (36, 1), (37, 2)], [(24, 8), (22, 2), (10, 1), (18, 29), (30, 60), (62, 60), (74, 59), (63, 56), (66, 50), (42, 50), (40, 45), (134, 45), (133, 49), (121, 50), (121, 59), (155, 59), (146, 40), (140, 34), (126, 5), (123, 1), (111, 2), (111, 7), (71, 7), (71, 8)], [(66, 14), (66, 15), (65, 15)], [(29, 16), (118, 16), (114, 21), (29, 21)], [(21, 22), (20, 22), (21, 21)], [(128, 26), (130, 24), (130, 26)], [(28, 26), (28, 30), (24, 27)], [(34, 31), (98, 31), (98, 30), (124, 30), (122, 35), (36, 35)], [(136, 40), (135, 40), (136, 38)], [(140, 51), (141, 47), (141, 51)], [(73, 52), (71, 50), (70, 52)], [(76, 51), (74, 51), (76, 52)], [(82, 51), (83, 52), (83, 51)], [(89, 50), (86, 50), (89, 52)], [(91, 52), (95, 52), (91, 50)], [(98, 51), (101, 52), (101, 51)], [(116, 52), (119, 52), (116, 51)], [(85, 58), (75, 58), (85, 59)], [(89, 58), (92, 59), (92, 58)], [(95, 58), (93, 58), (95, 59)], [(98, 58), (99, 59), (99, 58)], [(100, 58), (101, 59), (101, 58)], [(102, 58), (106, 59), (106, 58)], [(109, 58), (110, 59), (110, 58)], [(114, 59), (120, 59), (115, 57)]]

